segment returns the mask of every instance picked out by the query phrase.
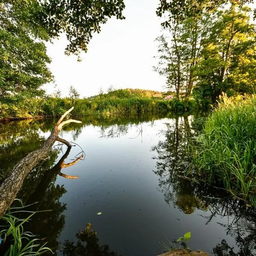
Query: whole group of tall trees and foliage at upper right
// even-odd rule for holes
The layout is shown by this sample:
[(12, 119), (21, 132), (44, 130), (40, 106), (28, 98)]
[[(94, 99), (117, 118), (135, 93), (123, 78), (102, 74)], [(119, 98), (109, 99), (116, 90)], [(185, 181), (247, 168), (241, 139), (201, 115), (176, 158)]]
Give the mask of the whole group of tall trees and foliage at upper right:
[(193, 89), (198, 104), (209, 106), (221, 92), (254, 93), (256, 30), (246, 2), (161, 1), (157, 14), (169, 16), (162, 23), (167, 35), (157, 38), (155, 70), (166, 76), (176, 97), (180, 92), (188, 97)]

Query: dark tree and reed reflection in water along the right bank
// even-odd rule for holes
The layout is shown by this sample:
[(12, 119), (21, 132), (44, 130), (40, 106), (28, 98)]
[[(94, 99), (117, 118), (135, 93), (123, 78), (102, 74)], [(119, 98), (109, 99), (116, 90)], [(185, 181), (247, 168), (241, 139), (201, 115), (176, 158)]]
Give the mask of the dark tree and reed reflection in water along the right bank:
[(207, 210), (202, 215), (207, 223), (215, 217), (228, 218), (227, 223), (218, 223), (234, 237), (238, 252), (225, 240), (213, 248), (216, 256), (255, 256), (256, 255), (256, 209), (248, 209), (244, 203), (222, 190), (212, 189), (205, 183), (184, 178), (184, 170), (188, 167), (186, 146), (189, 137), (196, 134), (191, 128), (189, 118), (176, 117), (171, 124), (166, 124), (162, 132), (165, 140), (160, 141), (153, 150), (157, 152), (157, 171), (159, 190), (163, 192), (165, 201), (179, 207), (186, 214), (195, 209)]

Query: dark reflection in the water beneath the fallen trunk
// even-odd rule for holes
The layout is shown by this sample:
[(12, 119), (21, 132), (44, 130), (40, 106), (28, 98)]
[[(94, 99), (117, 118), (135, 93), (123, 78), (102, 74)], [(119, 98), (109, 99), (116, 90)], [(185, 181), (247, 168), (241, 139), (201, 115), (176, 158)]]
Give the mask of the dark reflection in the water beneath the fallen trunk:
[[(64, 186), (55, 185), (55, 181), (57, 175), (70, 178), (70, 176), (64, 175), (61, 169), (74, 165), (80, 159), (79, 157), (72, 163), (65, 164), (64, 160), (70, 154), (70, 150), (71, 147), (68, 147), (58, 163), (52, 168), (49, 168), (49, 166), (52, 166), (52, 163), (55, 162), (58, 155), (58, 152), (52, 151), (50, 158), (45, 161), (43, 165), (35, 167), (29, 174), (24, 182), (23, 190), (19, 193), (19, 197), (22, 198), (23, 202), (26, 202), (27, 205), (32, 204), (32, 206), (29, 207), (30, 210), (50, 210), (38, 212), (29, 222), (27, 229), (34, 234), (38, 234), (40, 238), (44, 238), (45, 241), (49, 241), (47, 246), (51, 248), (58, 247), (57, 239), (65, 225), (63, 212), (66, 210), (66, 204), (61, 204), (59, 199), (67, 190)], [(74, 177), (77, 176), (72, 176), (71, 178)], [(33, 204), (35, 202), (38, 203)]]

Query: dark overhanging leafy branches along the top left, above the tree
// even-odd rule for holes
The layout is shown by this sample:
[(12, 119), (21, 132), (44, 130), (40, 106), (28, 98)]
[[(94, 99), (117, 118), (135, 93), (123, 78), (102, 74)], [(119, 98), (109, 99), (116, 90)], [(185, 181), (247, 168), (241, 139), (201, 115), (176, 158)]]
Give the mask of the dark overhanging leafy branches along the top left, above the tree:
[[(44, 40), (65, 33), (69, 44), (66, 54), (87, 51), (87, 44), (94, 32), (100, 32), (101, 24), (111, 16), (124, 19), (122, 0), (5, 0), (1, 3), (1, 13), (9, 15), (12, 24), (20, 23), (29, 32)], [(15, 15), (13, 15), (15, 14)], [(6, 22), (6, 16), (1, 15)]]

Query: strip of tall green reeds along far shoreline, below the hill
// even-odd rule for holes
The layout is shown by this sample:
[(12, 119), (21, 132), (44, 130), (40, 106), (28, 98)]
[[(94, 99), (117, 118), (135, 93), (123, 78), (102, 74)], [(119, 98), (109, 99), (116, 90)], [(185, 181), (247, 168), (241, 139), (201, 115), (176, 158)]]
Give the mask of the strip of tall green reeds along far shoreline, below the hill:
[(47, 115), (61, 115), (65, 109), (74, 106), (74, 116), (127, 116), (139, 113), (184, 112), (193, 108), (193, 101), (163, 100), (148, 97), (96, 98), (88, 99), (48, 99), (43, 107)]

